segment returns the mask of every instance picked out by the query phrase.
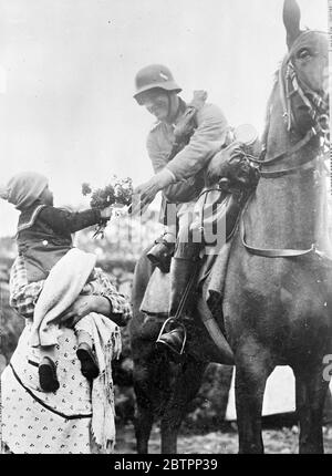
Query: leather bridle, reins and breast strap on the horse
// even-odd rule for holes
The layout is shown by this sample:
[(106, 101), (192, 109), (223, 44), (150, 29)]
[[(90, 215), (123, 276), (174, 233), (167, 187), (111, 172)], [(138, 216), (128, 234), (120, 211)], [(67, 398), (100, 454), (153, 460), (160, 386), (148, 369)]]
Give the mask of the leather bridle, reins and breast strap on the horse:
[[(308, 34), (304, 31), (303, 34)], [(299, 39), (300, 39), (299, 37)], [(321, 165), (323, 167), (324, 156), (330, 147), (330, 137), (329, 137), (329, 103), (323, 100), (317, 92), (314, 92), (302, 79), (299, 77), (295, 68), (292, 63), (292, 52), (295, 45), (298, 45), (298, 41), (293, 44), (290, 53), (286, 56), (282, 62), (282, 65), (279, 70), (278, 83), (280, 90), (280, 100), (282, 104), (282, 117), (284, 120), (284, 125), (287, 131), (290, 133), (291, 130), (297, 131), (297, 121), (295, 115), (292, 111), (292, 99), (295, 96), (300, 96), (302, 103), (308, 110), (308, 114), (311, 120), (314, 122), (314, 125), (305, 133), (304, 137), (302, 137), (299, 142), (297, 142), (289, 149), (278, 154), (272, 158), (266, 159), (267, 154), (267, 144), (263, 144), (262, 153), (259, 159), (252, 156), (248, 156), (248, 159), (252, 162), (259, 168), (260, 177), (263, 179), (270, 178), (279, 178), (291, 174), (298, 174), (299, 172), (305, 172), (310, 169), (317, 168), (317, 166)], [(266, 131), (263, 134), (264, 141), (267, 142), (269, 125), (270, 125), (270, 115), (267, 121)], [(301, 151), (305, 145), (310, 144), (313, 138), (319, 139), (320, 142), (320, 152), (318, 155), (309, 156), (304, 158), (300, 158), (297, 161), (293, 167), (282, 168), (279, 170), (266, 170), (271, 165), (278, 164), (280, 161), (292, 156), (293, 154)], [(309, 255), (310, 252), (317, 252), (319, 256), (324, 256), (321, 251), (318, 251), (317, 246), (313, 244), (311, 248), (305, 250), (295, 250), (295, 249), (262, 249), (249, 246), (246, 242), (246, 230), (245, 230), (245, 213), (248, 209), (249, 203), (253, 198), (253, 194), (249, 197), (246, 207), (242, 210), (241, 216), (241, 238), (245, 248), (252, 255), (262, 256), (267, 258), (292, 258), (300, 257), (304, 255)]]

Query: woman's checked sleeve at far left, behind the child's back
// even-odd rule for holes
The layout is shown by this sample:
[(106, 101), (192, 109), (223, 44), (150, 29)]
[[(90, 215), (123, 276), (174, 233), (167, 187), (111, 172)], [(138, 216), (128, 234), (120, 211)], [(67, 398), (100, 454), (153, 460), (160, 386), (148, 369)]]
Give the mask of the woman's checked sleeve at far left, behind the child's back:
[(30, 282), (22, 257), (18, 257), (10, 271), (10, 306), (23, 318), (33, 319), (34, 306), (43, 289), (44, 280)]

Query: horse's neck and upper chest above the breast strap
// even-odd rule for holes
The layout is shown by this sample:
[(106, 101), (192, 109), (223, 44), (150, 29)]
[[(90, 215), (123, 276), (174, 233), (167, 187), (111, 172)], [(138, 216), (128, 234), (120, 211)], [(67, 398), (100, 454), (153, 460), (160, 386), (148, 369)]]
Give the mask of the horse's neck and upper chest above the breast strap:
[[(266, 158), (289, 151), (299, 139), (287, 132), (281, 103), (277, 101), (271, 111)], [(318, 154), (318, 143), (313, 141), (292, 157), (264, 169), (290, 168), (299, 156), (302, 159), (304, 155), (309, 158)], [(323, 174), (320, 176), (314, 168), (279, 178), (261, 178), (256, 192), (256, 206), (249, 214), (256, 244), (269, 248), (297, 249), (307, 249), (315, 244), (328, 250), (326, 199), (326, 177)]]

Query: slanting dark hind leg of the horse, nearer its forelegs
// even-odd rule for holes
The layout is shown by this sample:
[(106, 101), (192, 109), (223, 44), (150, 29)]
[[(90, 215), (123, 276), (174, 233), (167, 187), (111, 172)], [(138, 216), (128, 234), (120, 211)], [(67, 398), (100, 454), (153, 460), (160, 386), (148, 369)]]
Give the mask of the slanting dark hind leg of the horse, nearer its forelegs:
[(162, 417), (162, 453), (177, 453), (177, 434), (188, 404), (195, 399), (207, 364), (188, 359), (179, 372)]

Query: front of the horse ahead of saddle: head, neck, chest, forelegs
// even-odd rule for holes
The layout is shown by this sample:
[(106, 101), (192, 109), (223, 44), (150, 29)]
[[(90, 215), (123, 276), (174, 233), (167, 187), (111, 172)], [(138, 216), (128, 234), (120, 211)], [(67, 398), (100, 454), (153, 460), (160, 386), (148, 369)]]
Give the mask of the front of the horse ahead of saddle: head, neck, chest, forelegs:
[(300, 30), (286, 0), (288, 55), (268, 104), (260, 180), (232, 242), (224, 321), (235, 353), (240, 453), (263, 453), (261, 410), (276, 365), (295, 377), (300, 453), (323, 453), (322, 412), (332, 350), (328, 228), (328, 37)]

